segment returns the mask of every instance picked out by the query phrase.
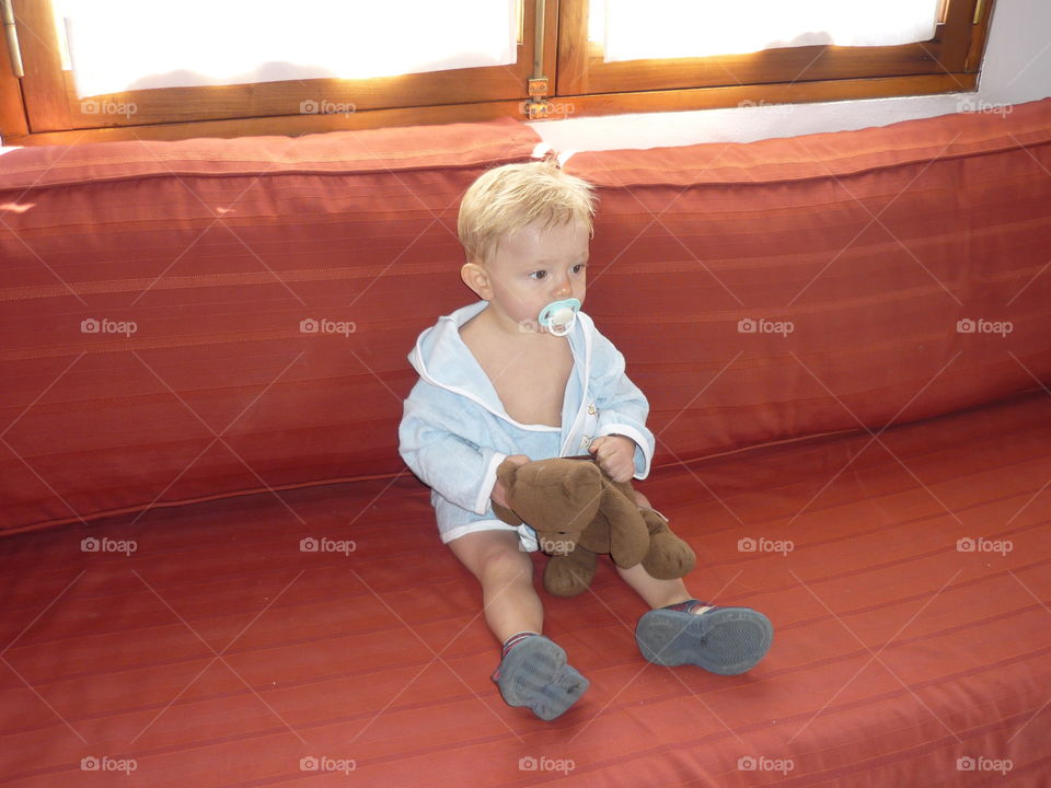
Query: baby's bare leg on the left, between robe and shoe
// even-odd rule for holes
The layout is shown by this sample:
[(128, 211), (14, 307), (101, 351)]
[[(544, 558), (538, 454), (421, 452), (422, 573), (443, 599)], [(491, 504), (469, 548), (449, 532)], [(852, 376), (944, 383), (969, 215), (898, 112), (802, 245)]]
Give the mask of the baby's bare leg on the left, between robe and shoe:
[(475, 531), (449, 543), (482, 583), (485, 621), (501, 644), (520, 631), (540, 633), (544, 624), (533, 588), (533, 561), (518, 544), (516, 531)]

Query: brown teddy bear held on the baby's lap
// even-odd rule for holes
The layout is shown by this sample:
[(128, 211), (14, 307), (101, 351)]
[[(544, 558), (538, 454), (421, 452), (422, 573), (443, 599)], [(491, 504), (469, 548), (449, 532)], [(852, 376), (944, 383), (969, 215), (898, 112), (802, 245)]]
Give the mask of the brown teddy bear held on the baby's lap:
[(511, 525), (536, 532), (551, 558), (544, 588), (555, 596), (576, 596), (591, 584), (596, 554), (608, 553), (625, 569), (642, 564), (651, 577), (681, 578), (696, 556), (652, 509), (639, 507), (631, 483), (610, 479), (594, 462), (552, 457), (522, 465), (505, 460), (496, 470), (510, 509), (493, 511)]

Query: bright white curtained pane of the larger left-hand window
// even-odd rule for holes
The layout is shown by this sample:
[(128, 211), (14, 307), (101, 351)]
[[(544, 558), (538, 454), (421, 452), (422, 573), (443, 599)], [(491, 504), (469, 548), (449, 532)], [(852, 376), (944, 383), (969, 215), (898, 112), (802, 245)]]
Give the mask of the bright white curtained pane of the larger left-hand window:
[(515, 0), (55, 0), (79, 97), (516, 60)]

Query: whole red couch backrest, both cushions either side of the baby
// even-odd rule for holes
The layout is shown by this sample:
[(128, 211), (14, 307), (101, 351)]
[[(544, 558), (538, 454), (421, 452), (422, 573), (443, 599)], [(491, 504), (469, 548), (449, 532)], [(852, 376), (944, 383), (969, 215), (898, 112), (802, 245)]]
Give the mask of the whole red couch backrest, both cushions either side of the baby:
[[(538, 142), (4, 152), (0, 529), (404, 472), (405, 356), (473, 299), (460, 197)], [(566, 169), (600, 190), (586, 310), (658, 465), (1051, 382), (1051, 101)]]

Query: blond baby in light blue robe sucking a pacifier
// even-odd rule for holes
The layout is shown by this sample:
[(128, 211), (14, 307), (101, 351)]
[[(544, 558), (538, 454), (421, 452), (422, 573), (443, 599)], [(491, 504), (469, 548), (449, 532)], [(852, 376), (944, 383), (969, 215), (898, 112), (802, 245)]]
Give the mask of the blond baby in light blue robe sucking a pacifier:
[[(545, 720), (588, 681), (541, 634), (535, 534), (494, 514), (493, 502), (507, 506), (496, 468), (589, 453), (613, 480), (642, 479), (655, 443), (624, 357), (579, 311), (593, 212), (591, 186), (550, 160), (475, 181), (460, 206), (460, 276), (482, 300), (419, 335), (408, 357), (419, 380), (400, 428), (402, 457), (431, 488), (442, 542), (482, 586), (485, 621), (503, 644), (493, 680), (509, 705)], [(616, 571), (651, 609), (635, 633), (650, 662), (730, 675), (770, 648), (762, 613), (701, 602), (682, 580), (657, 580), (642, 565)]]

